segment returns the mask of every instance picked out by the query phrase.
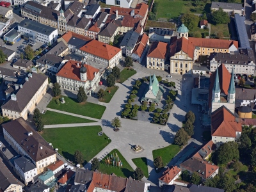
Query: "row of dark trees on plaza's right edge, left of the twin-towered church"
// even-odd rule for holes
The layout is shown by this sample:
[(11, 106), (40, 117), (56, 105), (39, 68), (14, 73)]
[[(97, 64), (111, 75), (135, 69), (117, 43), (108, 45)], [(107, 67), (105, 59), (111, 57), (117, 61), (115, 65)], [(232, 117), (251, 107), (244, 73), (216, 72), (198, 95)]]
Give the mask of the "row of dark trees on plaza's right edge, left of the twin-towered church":
[(195, 114), (192, 111), (188, 111), (185, 116), (186, 123), (184, 127), (177, 131), (174, 143), (176, 145), (186, 145), (188, 143), (189, 137), (194, 134), (194, 122), (195, 122)]

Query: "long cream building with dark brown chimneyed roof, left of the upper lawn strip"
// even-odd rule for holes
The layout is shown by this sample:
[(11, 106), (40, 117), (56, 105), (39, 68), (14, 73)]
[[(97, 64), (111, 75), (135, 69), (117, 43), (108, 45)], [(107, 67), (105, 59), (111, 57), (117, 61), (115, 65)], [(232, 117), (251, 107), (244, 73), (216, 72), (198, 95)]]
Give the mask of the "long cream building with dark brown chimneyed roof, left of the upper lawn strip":
[(48, 88), (48, 78), (42, 74), (28, 74), (24, 84), (15, 84), (13, 92), (2, 106), (3, 116), (24, 118), (25, 120), (36, 108)]

